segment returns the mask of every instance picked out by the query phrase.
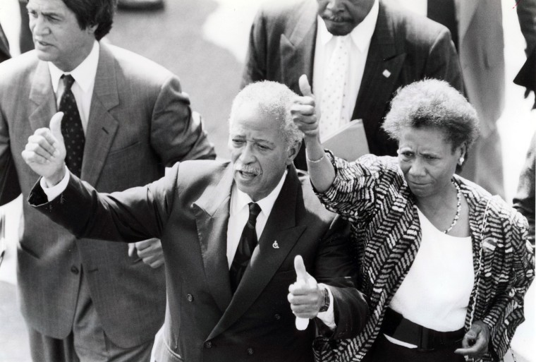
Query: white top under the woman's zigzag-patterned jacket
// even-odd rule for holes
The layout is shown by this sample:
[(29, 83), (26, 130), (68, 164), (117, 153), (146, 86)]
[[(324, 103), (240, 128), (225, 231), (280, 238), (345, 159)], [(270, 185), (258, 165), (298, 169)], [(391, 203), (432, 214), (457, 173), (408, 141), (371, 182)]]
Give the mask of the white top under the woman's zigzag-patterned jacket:
[[(459, 330), (475, 282), (471, 238), (444, 234), (420, 210), (418, 214), (420, 248), (389, 306), (423, 327), (440, 332)], [(416, 347), (386, 337), (396, 344)]]

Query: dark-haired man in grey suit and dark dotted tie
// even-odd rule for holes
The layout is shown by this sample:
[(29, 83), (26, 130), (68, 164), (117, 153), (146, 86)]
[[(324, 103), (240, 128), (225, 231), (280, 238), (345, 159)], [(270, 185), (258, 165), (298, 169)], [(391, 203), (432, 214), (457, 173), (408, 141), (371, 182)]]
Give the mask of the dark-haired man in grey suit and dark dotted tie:
[[(28, 13), (35, 51), (0, 64), (0, 205), (28, 197), (36, 175), (21, 152), (58, 110), (71, 169), (99, 191), (214, 158), (178, 78), (99, 42), (114, 0), (30, 0)], [(23, 215), (18, 287), (34, 361), (148, 361), (165, 314), (160, 241), (129, 256), (126, 244), (77, 239), (28, 205)]]

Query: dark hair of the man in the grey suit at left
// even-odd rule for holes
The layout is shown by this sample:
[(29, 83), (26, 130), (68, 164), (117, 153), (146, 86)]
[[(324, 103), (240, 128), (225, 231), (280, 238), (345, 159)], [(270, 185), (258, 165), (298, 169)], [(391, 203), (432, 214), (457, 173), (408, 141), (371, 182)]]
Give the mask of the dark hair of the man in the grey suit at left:
[(117, 0), (62, 0), (75, 13), (80, 29), (97, 25), (95, 39), (101, 40), (111, 30)]

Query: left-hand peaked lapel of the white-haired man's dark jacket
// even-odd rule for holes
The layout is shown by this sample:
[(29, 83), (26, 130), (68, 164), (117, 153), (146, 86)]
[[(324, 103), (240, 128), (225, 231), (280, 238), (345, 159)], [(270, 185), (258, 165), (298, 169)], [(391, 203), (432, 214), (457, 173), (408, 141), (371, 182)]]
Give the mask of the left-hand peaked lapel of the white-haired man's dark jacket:
[(226, 255), (232, 186), (233, 166), (229, 164), (217, 187), (207, 190), (193, 203), (207, 284), (221, 313), (224, 313), (231, 301)]

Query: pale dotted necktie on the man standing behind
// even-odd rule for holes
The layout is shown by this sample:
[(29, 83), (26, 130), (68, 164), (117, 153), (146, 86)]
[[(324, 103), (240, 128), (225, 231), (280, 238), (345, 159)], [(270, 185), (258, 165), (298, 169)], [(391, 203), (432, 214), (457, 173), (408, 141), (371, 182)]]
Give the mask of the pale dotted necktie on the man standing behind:
[(335, 50), (324, 72), (324, 88), (320, 100), (320, 137), (337, 131), (348, 120), (342, 119), (348, 66), (350, 64), (350, 35), (336, 37)]

